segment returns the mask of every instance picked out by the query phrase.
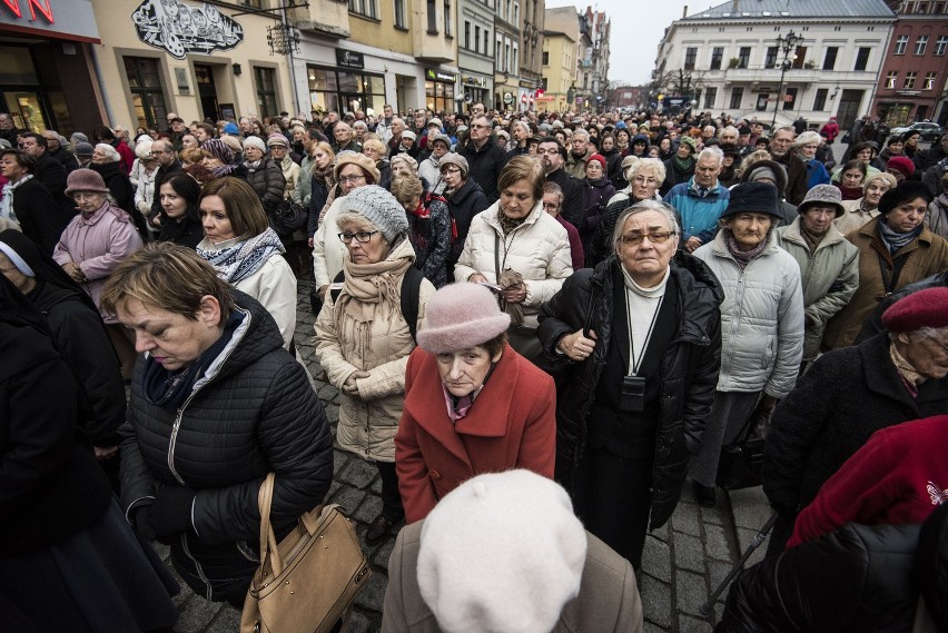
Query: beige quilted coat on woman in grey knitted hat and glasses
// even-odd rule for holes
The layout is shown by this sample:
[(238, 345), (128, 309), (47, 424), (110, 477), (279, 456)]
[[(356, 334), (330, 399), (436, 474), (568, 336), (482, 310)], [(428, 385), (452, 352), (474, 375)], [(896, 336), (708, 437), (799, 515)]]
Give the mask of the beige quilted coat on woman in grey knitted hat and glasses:
[[(415, 260), (415, 250), (407, 239), (397, 241), (386, 261)], [(345, 264), (348, 267), (348, 263)], [(346, 276), (348, 277), (348, 271)], [(389, 284), (396, 293), (404, 274), (393, 276)], [(382, 281), (384, 275), (376, 276)], [(405, 368), (415, 348), (408, 324), (401, 311), (396, 294), (375, 304), (375, 315), (368, 330), (361, 333), (358, 323), (348, 313), (336, 315), (336, 303), (350, 295), (345, 281), (336, 301), (327, 291), (323, 309), (316, 319), (316, 359), (326, 370), (329, 383), (337, 389), (354, 372), (368, 372), (367, 378), (356, 380), (358, 396), (339, 392), (339, 445), (364, 459), (395, 461), (395, 433), (405, 403)], [(418, 297), (418, 329), (425, 318), (425, 305), (435, 288), (422, 281)], [(353, 301), (357, 299), (353, 298)]]

